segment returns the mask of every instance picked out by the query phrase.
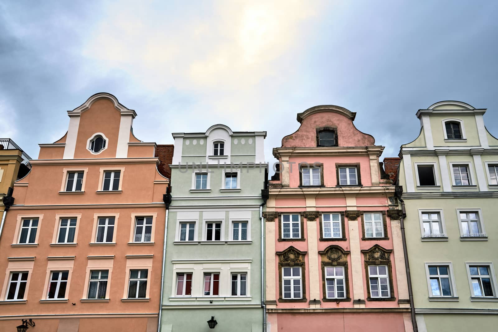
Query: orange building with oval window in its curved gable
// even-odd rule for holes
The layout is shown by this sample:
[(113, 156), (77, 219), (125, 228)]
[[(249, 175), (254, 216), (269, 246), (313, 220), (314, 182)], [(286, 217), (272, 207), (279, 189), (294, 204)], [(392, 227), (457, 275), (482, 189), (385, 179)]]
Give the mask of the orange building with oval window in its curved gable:
[(110, 94), (68, 115), (67, 133), (40, 144), (13, 186), (0, 331), (21, 319), (37, 332), (156, 331), (171, 163), (156, 156), (172, 147), (135, 138), (135, 111)]

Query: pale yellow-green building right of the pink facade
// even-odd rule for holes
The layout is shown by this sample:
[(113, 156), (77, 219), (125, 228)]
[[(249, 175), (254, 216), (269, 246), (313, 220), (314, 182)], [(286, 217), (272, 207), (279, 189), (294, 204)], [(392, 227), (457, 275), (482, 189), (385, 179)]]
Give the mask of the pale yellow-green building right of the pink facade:
[(485, 109), (439, 102), (417, 111), (398, 184), (418, 331), (498, 329), (498, 139)]

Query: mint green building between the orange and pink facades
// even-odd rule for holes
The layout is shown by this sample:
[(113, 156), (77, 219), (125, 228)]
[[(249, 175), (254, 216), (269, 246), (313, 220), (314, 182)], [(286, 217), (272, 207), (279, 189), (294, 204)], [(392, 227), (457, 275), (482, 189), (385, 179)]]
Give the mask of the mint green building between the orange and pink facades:
[[(163, 332), (262, 331), (266, 132), (173, 133)], [(201, 166), (202, 165), (202, 166)]]

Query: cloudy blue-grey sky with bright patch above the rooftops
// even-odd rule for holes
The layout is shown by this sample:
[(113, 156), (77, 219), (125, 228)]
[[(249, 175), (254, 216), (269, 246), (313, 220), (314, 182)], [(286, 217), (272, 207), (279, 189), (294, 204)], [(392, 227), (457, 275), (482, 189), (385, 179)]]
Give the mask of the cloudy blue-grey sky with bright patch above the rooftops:
[[(138, 4), (140, 2), (140, 4)], [(266, 130), (265, 153), (315, 105), (357, 112), (396, 156), (441, 100), (488, 108), (498, 136), (498, 1), (0, 0), (0, 137), (32, 158), (66, 111), (109, 92), (143, 141)]]

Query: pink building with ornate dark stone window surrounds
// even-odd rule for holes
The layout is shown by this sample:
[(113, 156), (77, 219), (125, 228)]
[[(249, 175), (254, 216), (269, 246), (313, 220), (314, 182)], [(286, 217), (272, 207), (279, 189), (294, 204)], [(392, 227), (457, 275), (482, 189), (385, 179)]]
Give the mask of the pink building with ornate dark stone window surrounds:
[(265, 219), (266, 331), (413, 331), (383, 147), (355, 112), (317, 106), (273, 149)]

